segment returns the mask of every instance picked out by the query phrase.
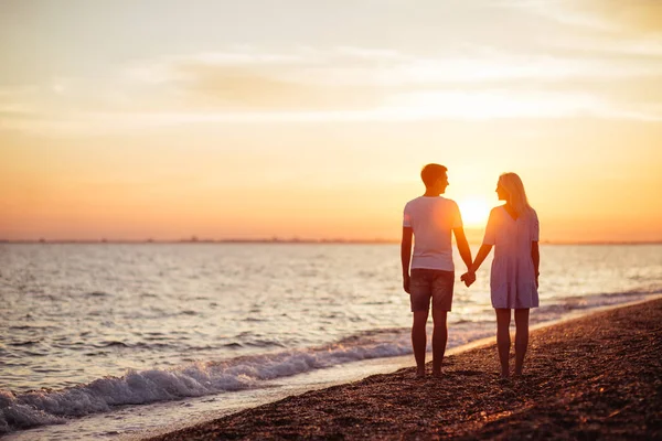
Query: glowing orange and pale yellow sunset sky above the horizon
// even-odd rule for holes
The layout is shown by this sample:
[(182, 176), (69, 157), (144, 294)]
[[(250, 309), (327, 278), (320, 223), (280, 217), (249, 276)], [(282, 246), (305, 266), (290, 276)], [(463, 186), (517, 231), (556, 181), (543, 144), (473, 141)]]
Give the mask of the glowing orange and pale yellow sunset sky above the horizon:
[(0, 0), (0, 239), (662, 240), (658, 0)]

